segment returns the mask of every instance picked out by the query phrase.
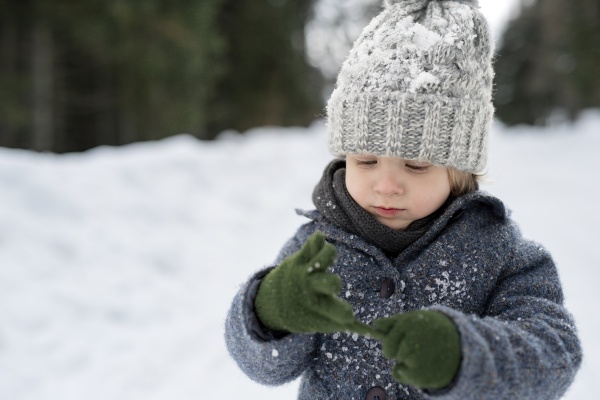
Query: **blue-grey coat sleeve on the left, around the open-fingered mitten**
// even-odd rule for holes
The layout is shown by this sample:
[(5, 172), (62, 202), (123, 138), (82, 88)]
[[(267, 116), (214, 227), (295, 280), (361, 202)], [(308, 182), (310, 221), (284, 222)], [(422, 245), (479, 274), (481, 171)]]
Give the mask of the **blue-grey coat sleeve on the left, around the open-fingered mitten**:
[[(298, 251), (311, 231), (304, 225), (281, 250), (275, 261)], [(316, 350), (314, 334), (281, 334), (258, 326), (254, 298), (268, 269), (254, 275), (237, 293), (225, 321), (225, 343), (240, 369), (264, 385), (281, 385), (296, 379), (310, 365)]]

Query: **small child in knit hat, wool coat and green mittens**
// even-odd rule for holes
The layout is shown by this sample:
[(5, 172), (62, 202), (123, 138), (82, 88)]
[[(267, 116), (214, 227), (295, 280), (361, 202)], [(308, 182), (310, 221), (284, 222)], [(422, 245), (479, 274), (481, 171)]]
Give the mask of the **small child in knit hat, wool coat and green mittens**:
[[(475, 1), (386, 0), (328, 104), (316, 210), (226, 342), (299, 399), (558, 399), (581, 363), (550, 255), (478, 191), (492, 42)], [(338, 297), (339, 296), (339, 297)]]

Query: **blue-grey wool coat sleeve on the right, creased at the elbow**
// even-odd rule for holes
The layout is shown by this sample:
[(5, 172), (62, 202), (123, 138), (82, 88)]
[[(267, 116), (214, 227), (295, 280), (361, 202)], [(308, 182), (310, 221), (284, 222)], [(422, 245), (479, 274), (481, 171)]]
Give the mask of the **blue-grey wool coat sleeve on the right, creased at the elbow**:
[(463, 360), (444, 400), (559, 399), (581, 364), (581, 347), (552, 258), (520, 236), (483, 315), (438, 306), (459, 328)]

